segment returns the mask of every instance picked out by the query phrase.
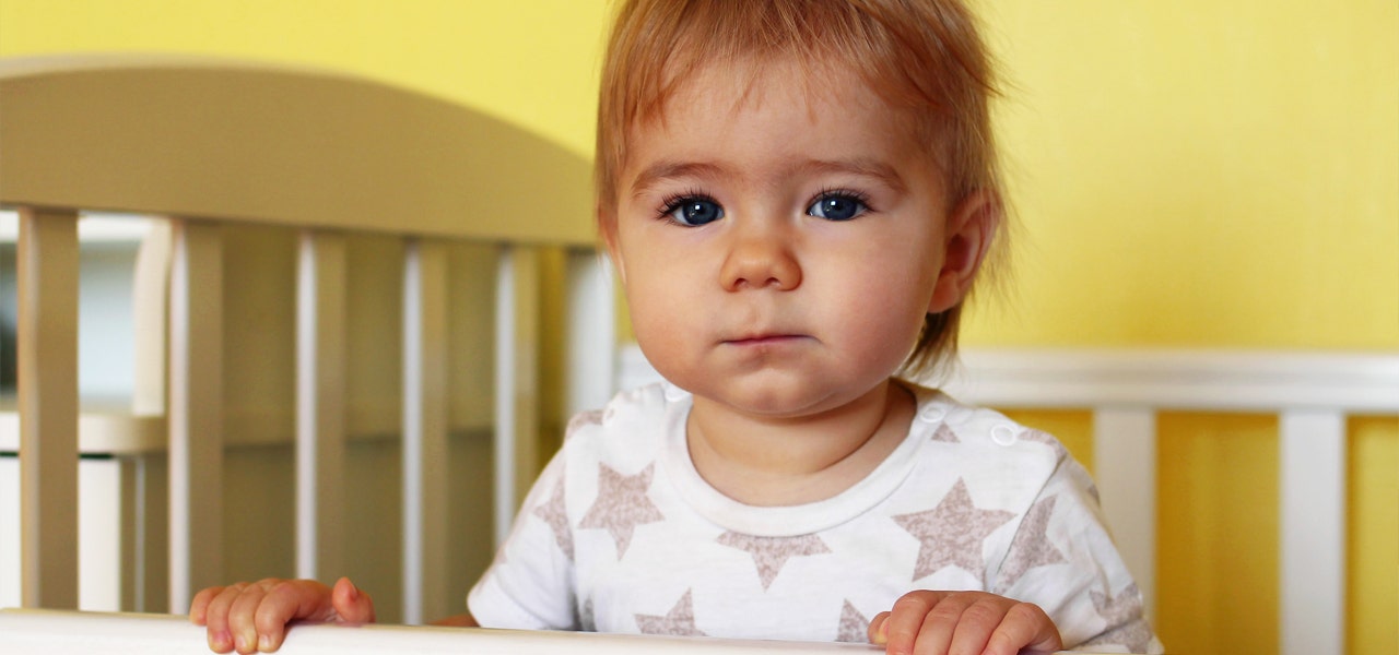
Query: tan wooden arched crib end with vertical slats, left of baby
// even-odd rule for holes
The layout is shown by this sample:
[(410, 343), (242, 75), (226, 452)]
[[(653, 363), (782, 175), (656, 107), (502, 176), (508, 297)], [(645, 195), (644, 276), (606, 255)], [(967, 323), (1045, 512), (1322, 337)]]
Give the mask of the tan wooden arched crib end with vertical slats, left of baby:
[[(25, 606), (77, 606), (78, 452), (169, 448), (169, 608), (221, 580), (222, 229), (299, 230), (295, 288), (298, 575), (336, 574), (344, 503), (347, 235), (402, 242), (404, 619), (445, 616), (443, 457), (452, 397), (494, 394), (495, 524), (537, 457), (539, 251), (569, 274), (569, 409), (611, 391), (611, 285), (593, 244), (590, 165), (502, 120), (336, 73), (176, 56), (0, 60), (0, 205), (20, 214), (18, 402)], [(127, 412), (80, 408), (84, 211), (159, 216), (137, 261)], [(494, 391), (448, 390), (446, 247), (498, 253)], [(492, 271), (494, 272), (494, 271)], [(490, 338), (490, 337), (487, 337)], [(168, 358), (166, 358), (168, 352)], [(168, 363), (166, 363), (168, 359)], [(236, 363), (236, 362), (234, 362)], [(397, 371), (400, 369), (395, 369)], [(290, 384), (290, 383), (288, 383)], [(17, 418), (15, 418), (17, 416)], [(516, 439), (519, 437), (519, 439)], [(425, 603), (425, 605), (424, 605)]]

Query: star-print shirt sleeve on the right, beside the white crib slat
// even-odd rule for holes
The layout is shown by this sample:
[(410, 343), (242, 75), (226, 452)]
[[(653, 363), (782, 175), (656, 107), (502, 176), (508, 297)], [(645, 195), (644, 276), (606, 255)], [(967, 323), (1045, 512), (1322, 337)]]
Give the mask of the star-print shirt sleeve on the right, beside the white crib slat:
[(1039, 605), (1066, 649), (1163, 652), (1142, 592), (1112, 543), (1097, 487), (1067, 454), (1024, 514), (993, 587)]

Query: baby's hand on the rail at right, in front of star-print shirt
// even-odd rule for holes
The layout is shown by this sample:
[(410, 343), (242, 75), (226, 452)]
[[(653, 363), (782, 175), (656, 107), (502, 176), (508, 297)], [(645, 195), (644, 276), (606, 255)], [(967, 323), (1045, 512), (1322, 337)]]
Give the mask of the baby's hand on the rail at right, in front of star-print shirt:
[(981, 591), (914, 591), (870, 621), (870, 641), (890, 655), (1016, 655), (1063, 648), (1037, 605)]

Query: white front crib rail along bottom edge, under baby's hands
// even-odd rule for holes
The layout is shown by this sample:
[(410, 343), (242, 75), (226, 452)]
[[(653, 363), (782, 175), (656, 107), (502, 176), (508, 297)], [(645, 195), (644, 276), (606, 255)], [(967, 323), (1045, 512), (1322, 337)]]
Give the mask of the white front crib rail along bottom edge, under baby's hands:
[[(187, 655), (208, 652), (204, 628), (182, 616), (0, 610), (7, 655)], [(529, 630), (403, 626), (297, 626), (281, 655), (413, 652), (473, 655), (877, 654), (862, 644), (715, 640)]]

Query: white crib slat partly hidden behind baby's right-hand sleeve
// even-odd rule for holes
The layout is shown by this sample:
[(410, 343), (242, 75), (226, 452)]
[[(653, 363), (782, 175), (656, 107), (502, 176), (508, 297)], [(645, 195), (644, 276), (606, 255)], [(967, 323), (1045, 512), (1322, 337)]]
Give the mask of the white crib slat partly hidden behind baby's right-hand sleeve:
[(1100, 408), (1093, 412), (1093, 459), (1102, 511), (1118, 552), (1156, 616), (1156, 412)]

